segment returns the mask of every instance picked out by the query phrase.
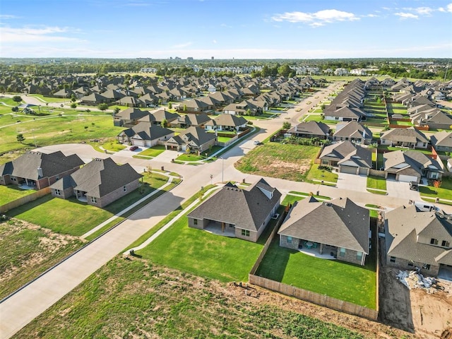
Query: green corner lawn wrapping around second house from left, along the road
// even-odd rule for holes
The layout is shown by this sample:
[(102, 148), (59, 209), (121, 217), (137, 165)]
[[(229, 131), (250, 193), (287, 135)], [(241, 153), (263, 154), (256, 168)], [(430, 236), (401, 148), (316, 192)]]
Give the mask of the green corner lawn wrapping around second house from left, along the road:
[(80, 236), (167, 182), (167, 177), (161, 174), (145, 176), (143, 179), (143, 194), (140, 189), (136, 189), (105, 208), (81, 203), (76, 198), (65, 200), (48, 194), (8, 211), (8, 216), (32, 222), (54, 232)]

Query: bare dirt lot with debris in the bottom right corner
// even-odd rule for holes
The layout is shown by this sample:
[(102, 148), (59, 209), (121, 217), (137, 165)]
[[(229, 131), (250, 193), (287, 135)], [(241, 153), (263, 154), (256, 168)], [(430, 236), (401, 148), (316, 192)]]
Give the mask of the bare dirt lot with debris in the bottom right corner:
[(398, 272), (388, 266), (380, 269), (381, 321), (417, 338), (452, 338), (452, 282), (439, 281), (444, 291), (409, 290), (397, 280)]

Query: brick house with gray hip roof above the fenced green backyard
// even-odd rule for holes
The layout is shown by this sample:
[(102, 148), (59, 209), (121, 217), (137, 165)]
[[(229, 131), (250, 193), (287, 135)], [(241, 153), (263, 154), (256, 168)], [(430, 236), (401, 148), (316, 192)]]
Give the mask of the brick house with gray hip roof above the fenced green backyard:
[(369, 255), (369, 210), (349, 198), (320, 202), (316, 198), (297, 201), (278, 234), (280, 246), (302, 249), (313, 246), (319, 254), (364, 266)]

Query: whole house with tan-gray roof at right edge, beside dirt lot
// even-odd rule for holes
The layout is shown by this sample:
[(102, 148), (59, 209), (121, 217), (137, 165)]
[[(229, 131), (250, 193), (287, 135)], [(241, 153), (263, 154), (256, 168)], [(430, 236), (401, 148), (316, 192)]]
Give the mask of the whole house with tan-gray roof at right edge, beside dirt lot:
[[(452, 270), (452, 220), (413, 204), (385, 213), (386, 264), (441, 278)], [(449, 273), (450, 274), (450, 273)]]

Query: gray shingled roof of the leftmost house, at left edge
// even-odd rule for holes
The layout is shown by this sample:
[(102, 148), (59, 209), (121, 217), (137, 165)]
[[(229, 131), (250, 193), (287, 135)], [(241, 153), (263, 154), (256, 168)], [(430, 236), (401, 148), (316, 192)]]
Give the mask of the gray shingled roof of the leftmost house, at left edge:
[[(29, 151), (12, 162), (0, 165), (0, 173), (37, 180), (54, 177), (57, 174), (80, 167), (84, 163), (76, 154), (66, 156), (61, 151), (48, 154)], [(38, 174), (38, 168), (42, 169), (42, 177)]]

